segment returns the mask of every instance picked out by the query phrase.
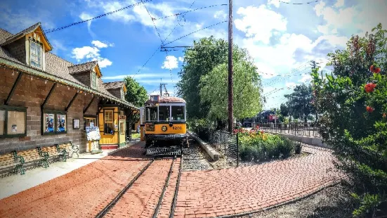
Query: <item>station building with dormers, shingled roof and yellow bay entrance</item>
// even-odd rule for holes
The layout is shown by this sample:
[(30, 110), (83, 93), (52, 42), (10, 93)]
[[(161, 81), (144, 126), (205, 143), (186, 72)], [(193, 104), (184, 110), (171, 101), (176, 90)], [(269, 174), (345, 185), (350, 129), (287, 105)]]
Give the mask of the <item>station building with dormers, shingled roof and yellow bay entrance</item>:
[(100, 145), (126, 139), (123, 82), (102, 81), (98, 62), (74, 65), (53, 49), (40, 23), (12, 34), (0, 29), (0, 154), (72, 141), (88, 150), (86, 126), (100, 127)]

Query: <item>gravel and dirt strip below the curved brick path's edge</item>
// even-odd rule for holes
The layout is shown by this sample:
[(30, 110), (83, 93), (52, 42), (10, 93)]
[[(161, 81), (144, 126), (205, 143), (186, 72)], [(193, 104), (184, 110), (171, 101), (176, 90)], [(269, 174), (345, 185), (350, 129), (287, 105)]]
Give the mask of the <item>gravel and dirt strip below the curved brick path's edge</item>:
[(353, 202), (350, 191), (340, 184), (325, 188), (314, 195), (270, 210), (249, 214), (242, 218), (352, 217)]

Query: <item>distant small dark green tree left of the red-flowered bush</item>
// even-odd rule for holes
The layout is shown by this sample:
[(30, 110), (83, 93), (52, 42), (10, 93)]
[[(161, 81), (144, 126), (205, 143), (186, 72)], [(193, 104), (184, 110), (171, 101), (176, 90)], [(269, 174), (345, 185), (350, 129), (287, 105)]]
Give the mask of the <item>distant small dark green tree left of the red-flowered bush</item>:
[(292, 94), (284, 95), (288, 99), (289, 113), (297, 119), (303, 119), (303, 122), (308, 121), (308, 115), (315, 113), (312, 91), (312, 86), (301, 84), (294, 88)]

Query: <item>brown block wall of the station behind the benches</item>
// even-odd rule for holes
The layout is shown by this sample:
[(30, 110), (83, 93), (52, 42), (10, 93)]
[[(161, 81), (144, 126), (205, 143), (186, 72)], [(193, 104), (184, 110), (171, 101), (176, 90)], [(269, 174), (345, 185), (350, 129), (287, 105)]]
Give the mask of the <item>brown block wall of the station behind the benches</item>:
[[(11, 70), (0, 68), (0, 103), (4, 104), (11, 87), (18, 74), (12, 75)], [(25, 150), (37, 146), (52, 146), (55, 143), (72, 141), (80, 145), (81, 152), (86, 150), (86, 134), (83, 131), (83, 110), (91, 101), (91, 94), (81, 93), (77, 96), (71, 108), (67, 112), (67, 134), (41, 135), (41, 104), (44, 102), (53, 82), (46, 82), (30, 75), (23, 75), (11, 101), (8, 105), (27, 107), (27, 136), (22, 138), (0, 139), (0, 154), (11, 150)], [(70, 103), (77, 91), (68, 86), (57, 86), (46, 103), (48, 110), (62, 110)], [(98, 98), (86, 112), (88, 115), (96, 115), (98, 111)], [(72, 129), (72, 119), (80, 120), (80, 129)]]

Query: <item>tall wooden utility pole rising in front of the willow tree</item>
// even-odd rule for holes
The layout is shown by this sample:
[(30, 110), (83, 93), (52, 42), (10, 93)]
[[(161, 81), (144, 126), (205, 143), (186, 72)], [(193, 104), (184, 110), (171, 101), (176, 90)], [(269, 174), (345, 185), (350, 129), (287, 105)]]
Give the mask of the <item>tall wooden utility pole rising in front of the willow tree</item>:
[(228, 0), (228, 132), (232, 132), (234, 124), (232, 74), (232, 0)]

